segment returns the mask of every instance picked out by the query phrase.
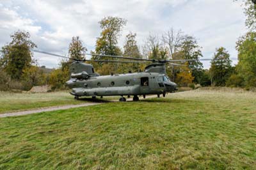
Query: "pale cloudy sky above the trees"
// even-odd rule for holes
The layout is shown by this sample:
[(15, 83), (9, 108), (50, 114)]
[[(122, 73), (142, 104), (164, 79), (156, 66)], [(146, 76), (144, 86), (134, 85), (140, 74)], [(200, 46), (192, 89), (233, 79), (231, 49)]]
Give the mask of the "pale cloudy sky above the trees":
[[(149, 33), (161, 34), (173, 27), (195, 36), (204, 58), (211, 58), (220, 46), (236, 58), (236, 40), (246, 32), (243, 7), (233, 0), (0, 0), (0, 47), (21, 29), (29, 31), (40, 50), (67, 55), (72, 36), (80, 36), (93, 50), (100, 35), (98, 22), (106, 16), (127, 19), (120, 46), (129, 31), (143, 45)], [(36, 53), (35, 58), (50, 68), (60, 61)], [(204, 66), (208, 68), (209, 62)]]

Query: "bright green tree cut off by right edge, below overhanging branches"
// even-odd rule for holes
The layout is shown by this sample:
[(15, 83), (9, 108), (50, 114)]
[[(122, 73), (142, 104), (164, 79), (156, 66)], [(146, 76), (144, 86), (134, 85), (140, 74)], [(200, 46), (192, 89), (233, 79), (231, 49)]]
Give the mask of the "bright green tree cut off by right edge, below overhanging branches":
[(237, 41), (237, 72), (248, 88), (256, 87), (256, 33), (246, 33)]

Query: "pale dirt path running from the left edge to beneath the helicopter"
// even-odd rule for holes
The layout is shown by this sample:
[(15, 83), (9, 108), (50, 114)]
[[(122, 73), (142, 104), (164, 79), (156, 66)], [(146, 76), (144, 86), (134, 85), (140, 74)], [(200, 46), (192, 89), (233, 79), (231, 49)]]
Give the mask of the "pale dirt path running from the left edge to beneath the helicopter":
[[(154, 98), (156, 96), (150, 95), (147, 98)], [(140, 100), (143, 100), (143, 98), (140, 97)], [(131, 102), (132, 98), (127, 98), (127, 102)], [(108, 102), (119, 102), (119, 100), (110, 100)], [(26, 114), (34, 114), (34, 113), (39, 113), (39, 112), (49, 112), (49, 111), (58, 111), (58, 110), (65, 110), (65, 109), (71, 109), (71, 108), (76, 108), (76, 107), (86, 107), (90, 105), (99, 105), (99, 104), (104, 104), (105, 102), (90, 102), (90, 103), (85, 103), (85, 104), (78, 104), (78, 105), (59, 105), (59, 106), (54, 106), (54, 107), (47, 107), (47, 108), (38, 108), (38, 109), (33, 109), (29, 111), (20, 111), (20, 112), (9, 112), (9, 113), (4, 113), (0, 114), (0, 118), (6, 118), (6, 117), (11, 117), (11, 116), (22, 116)]]

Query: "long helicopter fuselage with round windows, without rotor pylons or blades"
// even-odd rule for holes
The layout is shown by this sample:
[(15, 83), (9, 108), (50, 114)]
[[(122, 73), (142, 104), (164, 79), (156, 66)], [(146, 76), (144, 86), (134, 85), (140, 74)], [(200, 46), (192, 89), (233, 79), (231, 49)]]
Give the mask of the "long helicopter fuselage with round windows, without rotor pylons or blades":
[(77, 97), (165, 94), (177, 89), (177, 84), (161, 73), (126, 73), (70, 79), (67, 86)]

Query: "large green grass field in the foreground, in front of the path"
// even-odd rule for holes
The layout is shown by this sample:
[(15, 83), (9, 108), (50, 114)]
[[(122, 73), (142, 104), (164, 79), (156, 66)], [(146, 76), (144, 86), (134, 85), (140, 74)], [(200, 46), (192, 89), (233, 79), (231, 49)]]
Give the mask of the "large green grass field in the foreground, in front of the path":
[(1, 118), (0, 169), (256, 169), (256, 93), (196, 90)]

